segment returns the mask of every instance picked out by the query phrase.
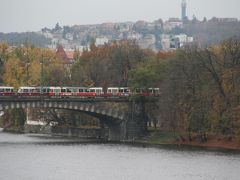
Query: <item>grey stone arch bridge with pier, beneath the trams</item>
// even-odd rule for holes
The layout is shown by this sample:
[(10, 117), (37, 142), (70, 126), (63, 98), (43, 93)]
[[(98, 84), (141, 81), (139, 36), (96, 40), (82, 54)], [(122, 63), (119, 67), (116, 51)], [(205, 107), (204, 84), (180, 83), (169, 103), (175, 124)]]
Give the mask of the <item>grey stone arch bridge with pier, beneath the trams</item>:
[(133, 140), (145, 133), (144, 101), (127, 98), (0, 98), (0, 111), (18, 108), (53, 108), (84, 112), (109, 128), (110, 140)]

